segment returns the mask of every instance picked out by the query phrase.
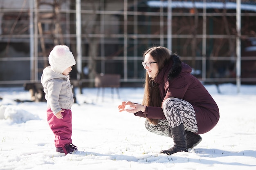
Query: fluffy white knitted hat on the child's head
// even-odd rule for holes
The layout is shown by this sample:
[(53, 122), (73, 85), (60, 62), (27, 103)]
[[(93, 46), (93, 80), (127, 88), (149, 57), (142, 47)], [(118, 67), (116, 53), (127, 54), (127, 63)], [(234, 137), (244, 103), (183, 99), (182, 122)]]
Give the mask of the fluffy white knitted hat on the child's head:
[(65, 69), (76, 64), (74, 55), (65, 45), (55, 46), (49, 54), (49, 64), (53, 71), (63, 73)]

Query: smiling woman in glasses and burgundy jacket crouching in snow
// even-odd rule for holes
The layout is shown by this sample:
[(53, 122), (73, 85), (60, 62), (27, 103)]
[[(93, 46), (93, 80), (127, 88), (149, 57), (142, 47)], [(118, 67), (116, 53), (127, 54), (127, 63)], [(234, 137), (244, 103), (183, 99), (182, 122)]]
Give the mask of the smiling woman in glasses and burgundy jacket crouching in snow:
[(216, 126), (220, 118), (218, 106), (178, 55), (154, 46), (143, 57), (146, 80), (142, 104), (125, 101), (118, 106), (119, 111), (145, 117), (147, 130), (172, 137), (173, 147), (161, 153), (187, 152), (202, 140), (198, 134)]

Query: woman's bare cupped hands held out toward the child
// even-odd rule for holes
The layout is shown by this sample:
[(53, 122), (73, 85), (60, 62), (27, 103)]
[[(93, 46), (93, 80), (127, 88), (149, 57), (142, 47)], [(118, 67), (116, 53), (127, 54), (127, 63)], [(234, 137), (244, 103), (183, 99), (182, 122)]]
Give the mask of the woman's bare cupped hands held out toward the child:
[(122, 105), (118, 106), (119, 112), (126, 111), (130, 113), (137, 113), (139, 111), (145, 112), (146, 107), (141, 104), (135, 104), (133, 102), (122, 102)]

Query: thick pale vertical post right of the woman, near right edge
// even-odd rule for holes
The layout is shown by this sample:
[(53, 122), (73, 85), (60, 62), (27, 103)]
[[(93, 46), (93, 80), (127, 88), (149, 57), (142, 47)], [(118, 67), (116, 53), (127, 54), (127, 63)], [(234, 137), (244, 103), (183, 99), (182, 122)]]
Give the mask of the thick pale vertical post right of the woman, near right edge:
[(241, 86), (241, 0), (236, 0), (236, 86), (240, 93)]

